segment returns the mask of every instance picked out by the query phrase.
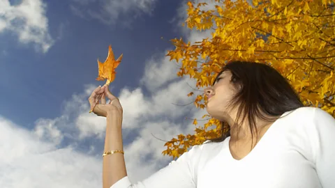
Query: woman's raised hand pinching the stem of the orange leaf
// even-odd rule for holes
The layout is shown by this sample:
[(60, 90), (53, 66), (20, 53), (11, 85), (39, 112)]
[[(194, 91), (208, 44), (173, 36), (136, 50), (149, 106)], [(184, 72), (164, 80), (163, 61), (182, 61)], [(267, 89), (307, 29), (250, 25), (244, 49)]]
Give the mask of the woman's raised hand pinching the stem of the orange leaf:
[[(101, 99), (99, 100), (100, 95)], [(110, 100), (107, 104), (106, 97)], [(89, 97), (89, 104), (91, 105), (91, 109), (94, 108), (93, 113), (98, 116), (106, 117), (108, 113), (116, 113), (120, 116), (120, 118), (122, 118), (123, 109), (119, 99), (110, 93), (108, 86), (106, 85), (102, 87), (98, 86), (98, 88), (93, 91)]]

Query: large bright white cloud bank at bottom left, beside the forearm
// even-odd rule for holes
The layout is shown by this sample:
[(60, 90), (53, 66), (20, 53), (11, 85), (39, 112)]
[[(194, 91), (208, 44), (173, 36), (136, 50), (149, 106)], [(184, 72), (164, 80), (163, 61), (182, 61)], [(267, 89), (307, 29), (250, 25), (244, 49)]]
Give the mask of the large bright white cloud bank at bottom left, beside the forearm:
[(101, 160), (57, 149), (0, 117), (0, 187), (101, 187)]

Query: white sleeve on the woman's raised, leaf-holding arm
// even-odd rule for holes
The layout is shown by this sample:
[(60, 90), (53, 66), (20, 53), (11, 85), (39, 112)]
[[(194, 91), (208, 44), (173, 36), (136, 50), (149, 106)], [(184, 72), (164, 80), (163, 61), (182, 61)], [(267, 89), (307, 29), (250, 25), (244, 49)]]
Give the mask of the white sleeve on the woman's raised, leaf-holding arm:
[(132, 184), (126, 176), (115, 182), (110, 188), (195, 188), (195, 173), (198, 169), (199, 155), (200, 146), (193, 146), (176, 161), (172, 161), (149, 178)]

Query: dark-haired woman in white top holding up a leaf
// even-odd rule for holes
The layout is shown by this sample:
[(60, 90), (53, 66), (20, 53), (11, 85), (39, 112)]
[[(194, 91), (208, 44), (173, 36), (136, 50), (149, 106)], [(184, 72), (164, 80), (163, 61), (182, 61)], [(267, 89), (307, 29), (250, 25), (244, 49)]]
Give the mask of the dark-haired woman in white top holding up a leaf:
[(205, 94), (207, 112), (228, 123), (228, 134), (193, 146), (136, 184), (126, 173), (121, 104), (103, 86), (89, 97), (91, 107), (101, 93), (94, 113), (107, 118), (104, 188), (335, 187), (334, 118), (304, 107), (288, 81), (268, 65), (225, 65)]

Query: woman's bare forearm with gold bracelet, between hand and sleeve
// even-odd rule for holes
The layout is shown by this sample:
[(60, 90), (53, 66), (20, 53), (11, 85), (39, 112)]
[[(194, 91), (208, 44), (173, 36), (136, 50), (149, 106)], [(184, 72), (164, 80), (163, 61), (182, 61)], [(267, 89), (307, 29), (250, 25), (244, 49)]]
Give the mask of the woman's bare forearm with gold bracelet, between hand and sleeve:
[[(107, 127), (104, 152), (124, 150), (121, 132), (122, 118), (115, 113), (107, 114)], [(110, 188), (127, 175), (124, 155), (114, 153), (103, 157), (103, 188)]]

